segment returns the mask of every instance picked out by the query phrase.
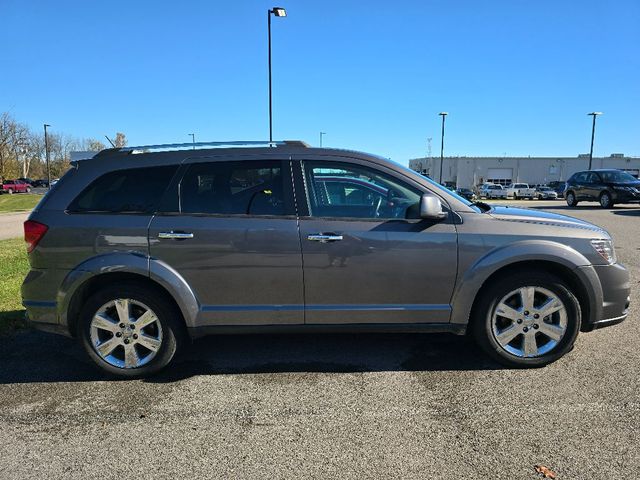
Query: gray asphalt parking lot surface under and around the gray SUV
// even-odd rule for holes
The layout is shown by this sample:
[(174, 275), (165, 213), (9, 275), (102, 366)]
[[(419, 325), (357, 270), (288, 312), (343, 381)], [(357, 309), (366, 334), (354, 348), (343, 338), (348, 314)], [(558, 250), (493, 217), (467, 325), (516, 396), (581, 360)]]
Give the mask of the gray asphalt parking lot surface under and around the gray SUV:
[(0, 478), (640, 478), (640, 207), (518, 203), (611, 232), (626, 322), (538, 370), (453, 335), (268, 335), (199, 340), (147, 381), (0, 338)]

